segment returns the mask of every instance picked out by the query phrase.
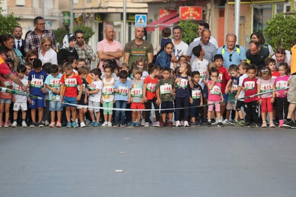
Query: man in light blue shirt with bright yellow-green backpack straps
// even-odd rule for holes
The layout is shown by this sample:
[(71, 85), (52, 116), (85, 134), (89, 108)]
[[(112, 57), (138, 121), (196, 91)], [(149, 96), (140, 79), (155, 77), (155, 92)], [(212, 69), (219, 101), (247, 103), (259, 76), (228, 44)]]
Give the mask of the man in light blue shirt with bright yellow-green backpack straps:
[(217, 54), (223, 56), (223, 66), (227, 69), (231, 64), (239, 65), (242, 62), (246, 62), (246, 53), (244, 47), (236, 45), (237, 36), (234, 34), (228, 34), (226, 36), (226, 45), (218, 48)]

